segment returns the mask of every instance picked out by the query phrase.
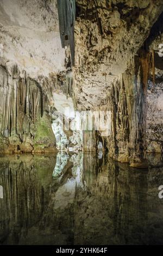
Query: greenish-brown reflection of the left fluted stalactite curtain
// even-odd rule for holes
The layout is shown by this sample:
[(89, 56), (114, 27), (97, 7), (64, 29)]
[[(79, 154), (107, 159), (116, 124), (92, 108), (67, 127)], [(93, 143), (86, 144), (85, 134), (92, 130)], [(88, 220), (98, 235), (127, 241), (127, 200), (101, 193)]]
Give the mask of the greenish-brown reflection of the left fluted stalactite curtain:
[(26, 243), (28, 230), (42, 225), (55, 157), (10, 156), (2, 157), (0, 162), (0, 184), (4, 188), (0, 200), (0, 243)]

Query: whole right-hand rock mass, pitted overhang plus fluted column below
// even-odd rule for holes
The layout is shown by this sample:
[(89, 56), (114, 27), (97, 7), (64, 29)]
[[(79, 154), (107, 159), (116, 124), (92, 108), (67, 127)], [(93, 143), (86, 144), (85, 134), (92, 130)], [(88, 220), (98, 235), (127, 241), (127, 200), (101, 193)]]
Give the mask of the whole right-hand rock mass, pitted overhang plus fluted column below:
[[(148, 90), (148, 80), (158, 83), (156, 69), (163, 70), (156, 58), (163, 32), (162, 1), (76, 2), (76, 106), (111, 111), (111, 135), (100, 138), (97, 133), (97, 139), (114, 159), (146, 167), (146, 151), (162, 152), (161, 93)], [(154, 99), (155, 110), (150, 103)]]

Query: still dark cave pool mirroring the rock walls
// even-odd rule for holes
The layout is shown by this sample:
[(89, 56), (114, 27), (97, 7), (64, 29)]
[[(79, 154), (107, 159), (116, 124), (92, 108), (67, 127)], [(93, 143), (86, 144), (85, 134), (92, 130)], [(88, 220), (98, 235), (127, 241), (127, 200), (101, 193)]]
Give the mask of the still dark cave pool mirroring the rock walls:
[(130, 168), (103, 154), (0, 157), (0, 244), (163, 244), (162, 156)]

